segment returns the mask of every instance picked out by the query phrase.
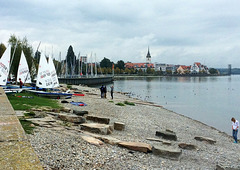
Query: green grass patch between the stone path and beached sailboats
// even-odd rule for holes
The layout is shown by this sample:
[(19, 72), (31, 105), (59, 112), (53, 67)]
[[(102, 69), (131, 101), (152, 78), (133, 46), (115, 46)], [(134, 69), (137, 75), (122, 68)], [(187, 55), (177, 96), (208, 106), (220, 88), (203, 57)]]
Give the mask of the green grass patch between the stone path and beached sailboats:
[[(32, 96), (33, 98), (17, 97), (17, 96)], [(31, 108), (50, 107), (59, 109), (61, 106), (56, 100), (38, 97), (31, 93), (17, 93), (16, 95), (8, 95), (8, 99), (14, 110), (29, 110)]]

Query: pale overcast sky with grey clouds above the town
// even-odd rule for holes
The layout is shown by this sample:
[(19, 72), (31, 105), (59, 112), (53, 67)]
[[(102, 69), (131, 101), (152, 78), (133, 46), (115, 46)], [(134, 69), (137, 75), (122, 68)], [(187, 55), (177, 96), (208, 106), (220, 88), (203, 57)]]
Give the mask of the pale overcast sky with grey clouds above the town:
[(0, 43), (26, 37), (65, 59), (240, 67), (239, 0), (0, 0)]

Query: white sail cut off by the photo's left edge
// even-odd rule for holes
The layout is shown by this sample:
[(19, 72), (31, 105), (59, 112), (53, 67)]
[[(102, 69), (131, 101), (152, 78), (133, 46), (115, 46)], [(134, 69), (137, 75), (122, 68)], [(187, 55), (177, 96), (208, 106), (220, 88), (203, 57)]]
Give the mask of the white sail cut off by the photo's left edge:
[(0, 59), (0, 85), (7, 84), (10, 69), (11, 46), (9, 46)]

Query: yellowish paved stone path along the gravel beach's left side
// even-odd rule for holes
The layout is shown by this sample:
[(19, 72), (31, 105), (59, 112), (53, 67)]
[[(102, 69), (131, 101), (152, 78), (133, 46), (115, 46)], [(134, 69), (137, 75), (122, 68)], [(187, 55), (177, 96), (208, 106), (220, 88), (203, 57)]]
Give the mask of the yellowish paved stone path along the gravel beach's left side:
[(8, 169), (43, 168), (0, 87), (0, 170)]

